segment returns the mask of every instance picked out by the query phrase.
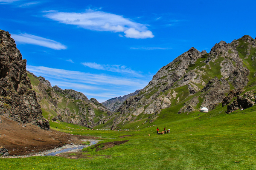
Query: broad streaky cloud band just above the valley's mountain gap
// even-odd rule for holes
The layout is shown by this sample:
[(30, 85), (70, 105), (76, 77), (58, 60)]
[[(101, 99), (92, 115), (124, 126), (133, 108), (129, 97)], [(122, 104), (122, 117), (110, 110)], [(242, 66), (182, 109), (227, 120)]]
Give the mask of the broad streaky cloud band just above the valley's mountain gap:
[(82, 92), (89, 98), (96, 98), (99, 102), (144, 88), (152, 78), (115, 77), (32, 65), (27, 65), (26, 68), (37, 76), (45, 77), (52, 85)]

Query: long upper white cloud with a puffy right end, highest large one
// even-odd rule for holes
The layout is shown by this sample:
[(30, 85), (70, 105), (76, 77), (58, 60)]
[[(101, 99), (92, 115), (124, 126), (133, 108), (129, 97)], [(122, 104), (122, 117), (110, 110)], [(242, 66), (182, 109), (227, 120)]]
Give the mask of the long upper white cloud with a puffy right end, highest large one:
[(44, 11), (44, 17), (64, 24), (79, 26), (94, 31), (123, 32), (127, 38), (153, 38), (154, 35), (147, 26), (136, 23), (121, 15), (103, 11), (87, 10), (84, 13)]

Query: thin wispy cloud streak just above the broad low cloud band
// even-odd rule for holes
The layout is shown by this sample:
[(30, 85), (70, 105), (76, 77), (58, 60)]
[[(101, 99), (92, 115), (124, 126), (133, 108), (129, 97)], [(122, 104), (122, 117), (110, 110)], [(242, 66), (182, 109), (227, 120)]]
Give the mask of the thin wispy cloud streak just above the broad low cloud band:
[(95, 62), (82, 62), (84, 66), (94, 68), (97, 70), (105, 70), (105, 71), (112, 71), (116, 73), (125, 73), (125, 74), (132, 74), (134, 76), (142, 76), (140, 72), (134, 71), (131, 68), (127, 68), (125, 65), (104, 65), (104, 64), (97, 64)]

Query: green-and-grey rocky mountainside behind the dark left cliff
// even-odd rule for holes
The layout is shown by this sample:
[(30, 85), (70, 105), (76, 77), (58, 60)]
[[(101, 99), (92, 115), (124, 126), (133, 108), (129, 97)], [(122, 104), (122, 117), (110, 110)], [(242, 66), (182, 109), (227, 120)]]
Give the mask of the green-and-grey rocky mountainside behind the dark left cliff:
[(61, 121), (93, 128), (107, 122), (112, 115), (96, 99), (90, 100), (71, 89), (51, 86), (44, 77), (28, 72), (32, 88), (36, 91), (43, 115), (50, 121)]

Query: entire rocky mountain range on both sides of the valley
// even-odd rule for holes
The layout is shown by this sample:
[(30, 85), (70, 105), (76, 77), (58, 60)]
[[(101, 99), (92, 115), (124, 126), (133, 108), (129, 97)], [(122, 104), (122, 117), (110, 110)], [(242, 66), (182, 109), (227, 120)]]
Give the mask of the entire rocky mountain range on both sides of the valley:
[(51, 122), (119, 129), (153, 123), (171, 112), (189, 114), (206, 107), (228, 114), (255, 105), (256, 40), (248, 35), (221, 41), (209, 53), (192, 47), (163, 66), (142, 90), (102, 104), (26, 72), (26, 60), (10, 34), (0, 31), (0, 38), (0, 114), (18, 122), (45, 129)]

